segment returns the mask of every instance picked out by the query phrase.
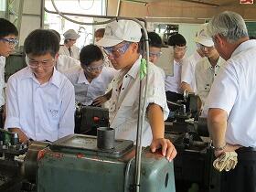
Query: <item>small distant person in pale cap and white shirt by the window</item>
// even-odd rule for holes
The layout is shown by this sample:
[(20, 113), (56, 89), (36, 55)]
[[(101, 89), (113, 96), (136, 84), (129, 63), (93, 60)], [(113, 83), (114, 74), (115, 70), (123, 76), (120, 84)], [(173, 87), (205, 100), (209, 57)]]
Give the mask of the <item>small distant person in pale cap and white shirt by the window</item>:
[(78, 33), (74, 29), (67, 30), (63, 36), (64, 45), (60, 46), (59, 54), (60, 55), (67, 55), (74, 59), (80, 59), (80, 48), (76, 47), (74, 44), (76, 43), (77, 39), (80, 37)]

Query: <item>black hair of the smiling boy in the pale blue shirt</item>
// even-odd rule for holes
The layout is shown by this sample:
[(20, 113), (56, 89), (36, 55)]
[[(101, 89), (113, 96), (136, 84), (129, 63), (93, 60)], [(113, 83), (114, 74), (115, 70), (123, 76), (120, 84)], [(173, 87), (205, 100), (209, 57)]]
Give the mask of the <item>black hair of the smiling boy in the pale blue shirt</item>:
[(36, 56), (49, 53), (52, 57), (55, 57), (59, 52), (59, 38), (50, 30), (36, 29), (25, 39), (24, 51), (26, 54)]

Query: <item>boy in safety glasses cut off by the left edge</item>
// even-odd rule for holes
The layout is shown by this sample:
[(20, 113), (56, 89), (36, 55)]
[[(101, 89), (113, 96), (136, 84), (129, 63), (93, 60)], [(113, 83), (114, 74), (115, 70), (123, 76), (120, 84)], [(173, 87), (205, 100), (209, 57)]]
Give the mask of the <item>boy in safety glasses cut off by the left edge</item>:
[(5, 18), (0, 18), (0, 127), (3, 128), (5, 121), (5, 58), (8, 57), (15, 49), (18, 40), (15, 25)]

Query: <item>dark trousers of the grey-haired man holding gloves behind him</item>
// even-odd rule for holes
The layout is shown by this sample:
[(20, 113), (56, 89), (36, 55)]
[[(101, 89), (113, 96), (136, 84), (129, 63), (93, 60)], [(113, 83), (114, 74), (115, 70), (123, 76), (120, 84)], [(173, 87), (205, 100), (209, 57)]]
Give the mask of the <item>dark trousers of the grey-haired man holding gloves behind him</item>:
[(241, 147), (235, 169), (221, 174), (221, 192), (256, 192), (256, 151)]

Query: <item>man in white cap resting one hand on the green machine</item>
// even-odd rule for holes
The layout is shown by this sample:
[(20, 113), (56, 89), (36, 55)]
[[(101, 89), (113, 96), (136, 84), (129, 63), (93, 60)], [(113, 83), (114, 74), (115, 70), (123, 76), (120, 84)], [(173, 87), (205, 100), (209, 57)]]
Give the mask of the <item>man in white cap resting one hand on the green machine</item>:
[[(110, 125), (115, 129), (116, 139), (133, 142), (136, 140), (139, 111), (141, 37), (141, 27), (134, 21), (118, 20), (106, 26), (104, 37), (97, 42), (108, 54), (112, 66), (120, 69), (112, 80)], [(176, 149), (164, 138), (164, 119), (168, 115), (165, 81), (161, 71), (153, 63), (148, 65), (147, 76), (149, 86), (145, 98), (146, 118), (142, 144), (151, 144), (152, 152), (162, 148), (162, 155), (170, 161), (176, 156)]]

